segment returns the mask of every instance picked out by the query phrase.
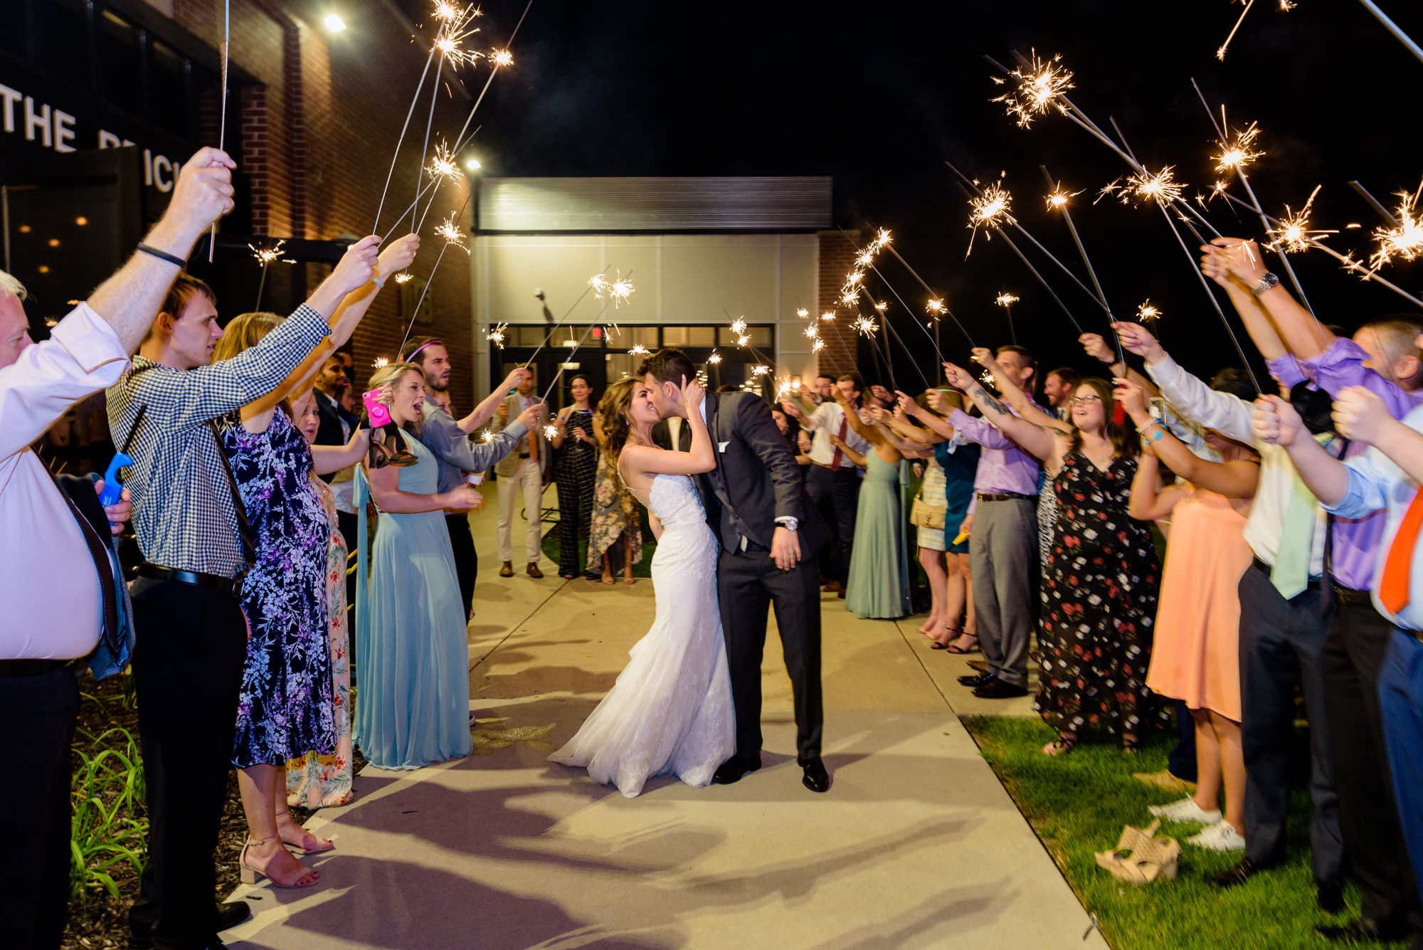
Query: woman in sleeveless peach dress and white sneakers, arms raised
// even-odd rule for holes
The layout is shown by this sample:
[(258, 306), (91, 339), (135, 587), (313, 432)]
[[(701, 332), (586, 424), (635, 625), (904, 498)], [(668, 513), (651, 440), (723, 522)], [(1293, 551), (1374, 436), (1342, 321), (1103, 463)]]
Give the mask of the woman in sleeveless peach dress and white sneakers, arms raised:
[[(1161, 575), (1147, 687), (1184, 700), (1195, 720), (1195, 795), (1151, 812), (1205, 825), (1187, 843), (1212, 850), (1245, 846), (1245, 757), (1241, 748), (1239, 579), (1251, 563), (1245, 519), (1259, 485), (1259, 459), (1247, 445), (1207, 431), (1224, 461), (1198, 458), (1148, 412), (1133, 383), (1118, 398), (1141, 432), (1130, 513), (1171, 521)], [(1161, 486), (1164, 464), (1184, 481)], [(1225, 815), (1221, 815), (1221, 786)]]

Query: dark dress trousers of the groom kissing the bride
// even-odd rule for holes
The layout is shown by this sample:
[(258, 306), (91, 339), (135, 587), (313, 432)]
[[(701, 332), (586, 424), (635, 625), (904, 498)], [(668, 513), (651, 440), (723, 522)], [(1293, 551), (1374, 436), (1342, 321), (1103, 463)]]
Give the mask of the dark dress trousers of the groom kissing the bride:
[(761, 654), (766, 650), (767, 609), (776, 610), (781, 653), (795, 700), (795, 754), (820, 757), (824, 727), (820, 690), (820, 577), (814, 559), (781, 570), (758, 545), (721, 550), (716, 572), (721, 602), (721, 636), (736, 704), (736, 754), (761, 754)]

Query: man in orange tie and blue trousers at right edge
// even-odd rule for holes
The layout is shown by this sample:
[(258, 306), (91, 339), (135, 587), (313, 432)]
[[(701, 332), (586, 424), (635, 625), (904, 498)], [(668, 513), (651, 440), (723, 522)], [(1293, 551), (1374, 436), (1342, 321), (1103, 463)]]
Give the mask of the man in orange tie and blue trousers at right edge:
[[(1271, 398), (1261, 405), (1261, 437), (1285, 445), (1301, 476), (1336, 518), (1387, 512), (1383, 542), (1370, 590), (1379, 623), (1393, 629), (1377, 671), (1379, 718), (1387, 752), (1382, 769), (1396, 801), (1406, 856), (1397, 869), (1405, 879), (1423, 868), (1423, 407), (1403, 420), (1370, 390), (1355, 385), (1339, 393), (1333, 420), (1340, 435), (1369, 451), (1346, 462), (1299, 438), (1299, 415), (1288, 402)], [(1309, 445), (1306, 445), (1306, 442)], [(1366, 684), (1369, 685), (1369, 684)], [(1403, 850), (1403, 848), (1399, 848)], [(1417, 875), (1413, 875), (1417, 887)], [(1423, 893), (1420, 893), (1423, 902)]]

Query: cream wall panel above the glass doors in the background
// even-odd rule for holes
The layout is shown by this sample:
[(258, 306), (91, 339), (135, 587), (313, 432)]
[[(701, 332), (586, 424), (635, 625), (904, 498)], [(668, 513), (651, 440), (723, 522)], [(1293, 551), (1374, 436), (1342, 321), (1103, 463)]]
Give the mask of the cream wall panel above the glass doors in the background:
[(535, 289), (558, 320), (603, 272), (636, 287), (616, 310), (589, 293), (569, 323), (777, 324), (777, 375), (814, 375), (815, 357), (798, 307), (817, 313), (818, 239), (814, 235), (555, 235), (477, 236), (471, 256), (475, 380), (488, 391), (492, 323), (544, 323)]

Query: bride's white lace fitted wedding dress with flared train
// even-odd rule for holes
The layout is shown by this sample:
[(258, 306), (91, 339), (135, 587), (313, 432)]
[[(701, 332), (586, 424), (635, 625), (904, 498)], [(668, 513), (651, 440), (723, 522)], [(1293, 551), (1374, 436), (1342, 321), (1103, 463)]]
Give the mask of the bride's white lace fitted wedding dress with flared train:
[(686, 475), (656, 475), (647, 509), (662, 522), (652, 559), (657, 616), (568, 745), (551, 762), (585, 767), (628, 798), (649, 775), (692, 786), (712, 781), (736, 752), (736, 710), (717, 609), (717, 540)]

